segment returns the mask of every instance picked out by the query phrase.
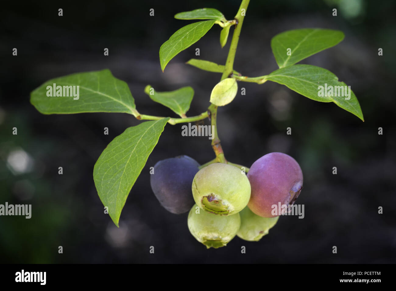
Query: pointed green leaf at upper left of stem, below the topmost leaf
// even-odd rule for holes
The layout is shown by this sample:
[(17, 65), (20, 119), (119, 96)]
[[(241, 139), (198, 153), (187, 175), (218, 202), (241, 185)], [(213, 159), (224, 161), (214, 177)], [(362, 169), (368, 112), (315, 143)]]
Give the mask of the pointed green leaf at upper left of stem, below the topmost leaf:
[(169, 40), (164, 42), (160, 47), (160, 63), (162, 71), (164, 71), (166, 65), (168, 65), (169, 61), (173, 59), (175, 55), (202, 38), (202, 36), (211, 29), (214, 23), (214, 20), (191, 23), (172, 34)]

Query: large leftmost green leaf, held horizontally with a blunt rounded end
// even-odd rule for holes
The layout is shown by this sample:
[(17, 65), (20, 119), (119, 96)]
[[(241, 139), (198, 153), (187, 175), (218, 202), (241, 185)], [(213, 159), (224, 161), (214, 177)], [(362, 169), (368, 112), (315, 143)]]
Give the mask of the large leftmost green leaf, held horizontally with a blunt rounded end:
[[(56, 84), (55, 92), (53, 84)], [(57, 86), (61, 86), (58, 88), (61, 90), (58, 91)], [(69, 91), (72, 88), (76, 97)], [(63, 96), (56, 96), (57, 91)], [(48, 96), (50, 93), (52, 96)], [(114, 78), (108, 69), (51, 79), (30, 93), (30, 103), (43, 114), (124, 112), (139, 115), (128, 84)]]

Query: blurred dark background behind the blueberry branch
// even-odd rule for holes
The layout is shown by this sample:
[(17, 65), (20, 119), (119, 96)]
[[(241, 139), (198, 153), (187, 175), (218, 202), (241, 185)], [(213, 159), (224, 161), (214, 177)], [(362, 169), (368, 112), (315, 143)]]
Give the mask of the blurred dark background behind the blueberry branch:
[[(0, 204), (32, 204), (32, 218), (0, 217), (0, 262), (396, 262), (395, 1), (251, 0), (234, 68), (247, 76), (275, 70), (270, 40), (279, 32), (342, 30), (343, 42), (301, 63), (324, 67), (350, 85), (365, 119), (280, 84), (238, 84), (246, 95), (238, 94), (219, 108), (219, 136), (227, 160), (249, 167), (268, 152), (284, 152), (299, 162), (304, 174), (297, 203), (305, 205), (305, 218), (281, 217), (260, 242), (236, 237), (227, 247), (206, 250), (190, 235), (187, 213), (168, 213), (154, 197), (149, 168), (181, 154), (204, 164), (214, 158), (207, 137), (182, 137), (181, 124), (166, 126), (117, 228), (103, 213), (93, 165), (114, 137), (140, 122), (128, 114), (42, 115), (30, 105), (30, 91), (46, 80), (109, 68), (128, 82), (139, 112), (173, 116), (143, 93), (151, 84), (158, 91), (192, 86), (195, 96), (187, 115), (199, 114), (209, 106), (221, 74), (184, 62), (194, 57), (225, 63), (230, 39), (221, 49), (220, 27), (214, 26), (171, 60), (164, 73), (159, 48), (192, 22), (174, 19), (175, 13), (208, 7), (232, 19), (239, 5), (236, 0), (2, 3)], [(103, 55), (104, 48), (109, 56)], [(200, 48), (198, 57), (195, 48)], [(12, 135), (13, 127), (17, 135)], [(109, 135), (103, 134), (104, 127)], [(286, 135), (287, 127), (292, 135)], [(58, 175), (60, 166), (63, 175)], [(378, 214), (379, 206), (383, 214)], [(58, 253), (60, 245), (63, 254)], [(246, 254), (240, 252), (242, 245)]]

